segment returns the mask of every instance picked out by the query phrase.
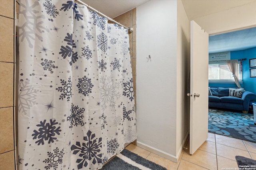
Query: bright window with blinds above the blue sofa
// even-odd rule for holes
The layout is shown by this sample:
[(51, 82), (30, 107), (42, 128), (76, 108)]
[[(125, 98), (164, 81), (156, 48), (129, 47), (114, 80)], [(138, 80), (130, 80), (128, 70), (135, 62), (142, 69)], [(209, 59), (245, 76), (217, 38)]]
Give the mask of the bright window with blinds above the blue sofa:
[[(209, 80), (227, 80), (234, 81), (234, 77), (228, 68), (226, 61), (210, 62), (208, 67)], [(240, 71), (240, 62), (238, 62), (238, 79), (242, 81), (242, 71)]]

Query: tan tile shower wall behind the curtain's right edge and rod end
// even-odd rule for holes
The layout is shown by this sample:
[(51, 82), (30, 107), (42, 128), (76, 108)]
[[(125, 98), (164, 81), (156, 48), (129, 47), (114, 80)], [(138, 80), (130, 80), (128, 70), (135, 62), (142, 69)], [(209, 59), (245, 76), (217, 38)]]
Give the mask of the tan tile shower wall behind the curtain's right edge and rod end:
[[(129, 40), (130, 40), (130, 55), (131, 55), (131, 63), (132, 63), (132, 77), (133, 77), (133, 88), (134, 88), (134, 99), (136, 105), (136, 10), (130, 10), (116, 18), (114, 20), (118, 21), (122, 25), (126, 27), (132, 27), (132, 33), (129, 33)], [(136, 141), (133, 142), (136, 145)]]

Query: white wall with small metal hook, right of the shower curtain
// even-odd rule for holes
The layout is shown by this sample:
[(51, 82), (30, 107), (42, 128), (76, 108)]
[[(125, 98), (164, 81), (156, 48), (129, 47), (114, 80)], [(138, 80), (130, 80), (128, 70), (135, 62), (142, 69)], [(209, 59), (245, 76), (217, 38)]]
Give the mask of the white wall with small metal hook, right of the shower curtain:
[[(137, 8), (137, 145), (175, 161), (177, 2)], [(147, 61), (148, 55), (151, 61)], [(180, 95), (180, 94), (179, 94)]]

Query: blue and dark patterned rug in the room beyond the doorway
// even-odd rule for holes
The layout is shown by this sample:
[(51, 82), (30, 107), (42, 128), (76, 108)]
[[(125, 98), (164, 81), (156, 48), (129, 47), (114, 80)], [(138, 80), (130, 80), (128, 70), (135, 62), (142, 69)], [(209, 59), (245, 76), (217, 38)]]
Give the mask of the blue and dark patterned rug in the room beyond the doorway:
[(210, 133), (256, 143), (256, 125), (250, 113), (209, 109), (208, 129)]

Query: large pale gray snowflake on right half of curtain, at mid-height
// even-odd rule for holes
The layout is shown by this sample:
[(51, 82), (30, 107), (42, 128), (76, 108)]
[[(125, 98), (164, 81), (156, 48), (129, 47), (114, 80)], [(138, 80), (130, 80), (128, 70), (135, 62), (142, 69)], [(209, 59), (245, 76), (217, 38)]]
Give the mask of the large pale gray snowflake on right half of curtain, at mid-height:
[(100, 78), (100, 104), (103, 111), (107, 106), (115, 107), (115, 98), (119, 99), (121, 94), (118, 92), (119, 85), (112, 80), (112, 77)]

